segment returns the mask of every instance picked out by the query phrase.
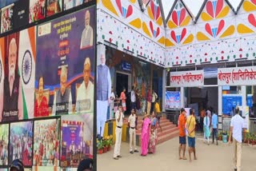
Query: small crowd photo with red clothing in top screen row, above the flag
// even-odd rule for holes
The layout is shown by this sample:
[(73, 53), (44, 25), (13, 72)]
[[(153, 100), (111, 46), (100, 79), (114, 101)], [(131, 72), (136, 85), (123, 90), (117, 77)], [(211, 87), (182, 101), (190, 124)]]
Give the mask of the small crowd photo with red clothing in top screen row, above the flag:
[(30, 0), (30, 16), (31, 22), (36, 22), (46, 17), (46, 0)]

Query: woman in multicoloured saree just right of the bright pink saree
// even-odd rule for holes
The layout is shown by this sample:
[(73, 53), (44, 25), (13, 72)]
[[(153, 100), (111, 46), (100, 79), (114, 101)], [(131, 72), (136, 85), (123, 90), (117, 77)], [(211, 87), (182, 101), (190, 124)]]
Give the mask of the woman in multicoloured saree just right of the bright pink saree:
[(155, 146), (158, 141), (158, 118), (155, 116), (154, 112), (152, 113), (152, 121), (150, 127), (150, 144), (149, 144), (149, 153), (155, 153)]

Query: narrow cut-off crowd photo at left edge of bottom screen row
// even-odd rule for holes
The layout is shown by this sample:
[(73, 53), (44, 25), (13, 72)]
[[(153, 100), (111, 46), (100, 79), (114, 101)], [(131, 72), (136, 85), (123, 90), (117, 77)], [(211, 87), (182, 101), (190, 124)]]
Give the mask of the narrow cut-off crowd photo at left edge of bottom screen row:
[(0, 125), (0, 166), (8, 165), (9, 124)]

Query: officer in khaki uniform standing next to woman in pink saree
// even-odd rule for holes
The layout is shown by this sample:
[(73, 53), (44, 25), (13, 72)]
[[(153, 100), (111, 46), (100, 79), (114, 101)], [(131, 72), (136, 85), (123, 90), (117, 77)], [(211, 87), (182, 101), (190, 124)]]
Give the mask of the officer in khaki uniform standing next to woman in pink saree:
[[(130, 117), (128, 118), (128, 127), (130, 133), (130, 153), (138, 153), (136, 148), (136, 114), (135, 109), (131, 109)], [(134, 141), (133, 141), (134, 140)], [(134, 143), (134, 145), (133, 145)]]

